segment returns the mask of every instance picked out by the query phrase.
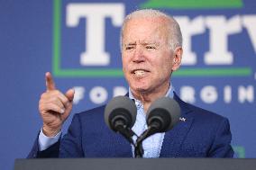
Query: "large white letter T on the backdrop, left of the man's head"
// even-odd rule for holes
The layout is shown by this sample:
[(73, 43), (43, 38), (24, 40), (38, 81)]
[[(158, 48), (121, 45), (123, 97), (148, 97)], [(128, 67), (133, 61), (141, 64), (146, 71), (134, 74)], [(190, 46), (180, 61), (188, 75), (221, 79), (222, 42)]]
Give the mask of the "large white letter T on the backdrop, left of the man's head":
[(83, 66), (107, 66), (109, 53), (105, 52), (105, 18), (110, 17), (113, 25), (122, 25), (124, 17), (123, 4), (68, 4), (67, 25), (78, 26), (80, 18), (86, 18), (86, 51), (81, 54)]

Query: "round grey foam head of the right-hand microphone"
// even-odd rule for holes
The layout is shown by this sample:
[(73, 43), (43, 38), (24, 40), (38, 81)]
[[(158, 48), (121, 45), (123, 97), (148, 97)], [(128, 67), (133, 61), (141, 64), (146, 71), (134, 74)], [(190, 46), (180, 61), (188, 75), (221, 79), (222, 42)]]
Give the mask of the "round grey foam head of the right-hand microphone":
[(160, 125), (158, 132), (171, 130), (180, 117), (178, 103), (169, 97), (162, 97), (151, 104), (147, 112), (147, 124), (156, 122)]

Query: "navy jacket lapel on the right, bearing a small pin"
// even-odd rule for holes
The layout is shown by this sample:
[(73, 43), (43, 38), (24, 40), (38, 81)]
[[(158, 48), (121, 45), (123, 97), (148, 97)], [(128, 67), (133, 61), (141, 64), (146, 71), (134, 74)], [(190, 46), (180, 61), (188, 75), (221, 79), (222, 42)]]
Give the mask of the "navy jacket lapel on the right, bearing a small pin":
[(160, 157), (179, 157), (180, 156), (180, 147), (187, 136), (187, 132), (191, 127), (193, 122), (193, 117), (189, 117), (187, 108), (187, 103), (184, 103), (178, 98), (178, 95), (174, 93), (174, 99), (178, 102), (181, 109), (181, 118), (184, 118), (186, 121), (179, 121), (178, 124), (168, 132), (165, 133)]

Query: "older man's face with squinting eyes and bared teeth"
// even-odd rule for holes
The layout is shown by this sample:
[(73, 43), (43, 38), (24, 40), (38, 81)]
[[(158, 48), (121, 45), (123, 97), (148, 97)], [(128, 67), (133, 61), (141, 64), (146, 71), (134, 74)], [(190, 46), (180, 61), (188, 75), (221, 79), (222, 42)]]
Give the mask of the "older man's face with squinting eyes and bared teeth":
[(123, 73), (136, 93), (166, 90), (172, 70), (178, 68), (169, 48), (163, 18), (136, 18), (123, 30)]

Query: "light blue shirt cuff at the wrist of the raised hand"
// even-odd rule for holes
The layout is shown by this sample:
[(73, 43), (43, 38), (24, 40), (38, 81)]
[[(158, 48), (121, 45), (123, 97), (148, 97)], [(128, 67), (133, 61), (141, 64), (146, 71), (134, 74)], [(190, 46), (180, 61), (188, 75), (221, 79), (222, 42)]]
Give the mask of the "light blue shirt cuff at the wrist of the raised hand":
[(40, 130), (40, 134), (38, 137), (38, 143), (39, 143), (39, 151), (45, 150), (47, 148), (50, 148), (51, 145), (58, 142), (61, 135), (61, 130), (59, 133), (54, 137), (47, 137), (43, 134), (42, 129)]

